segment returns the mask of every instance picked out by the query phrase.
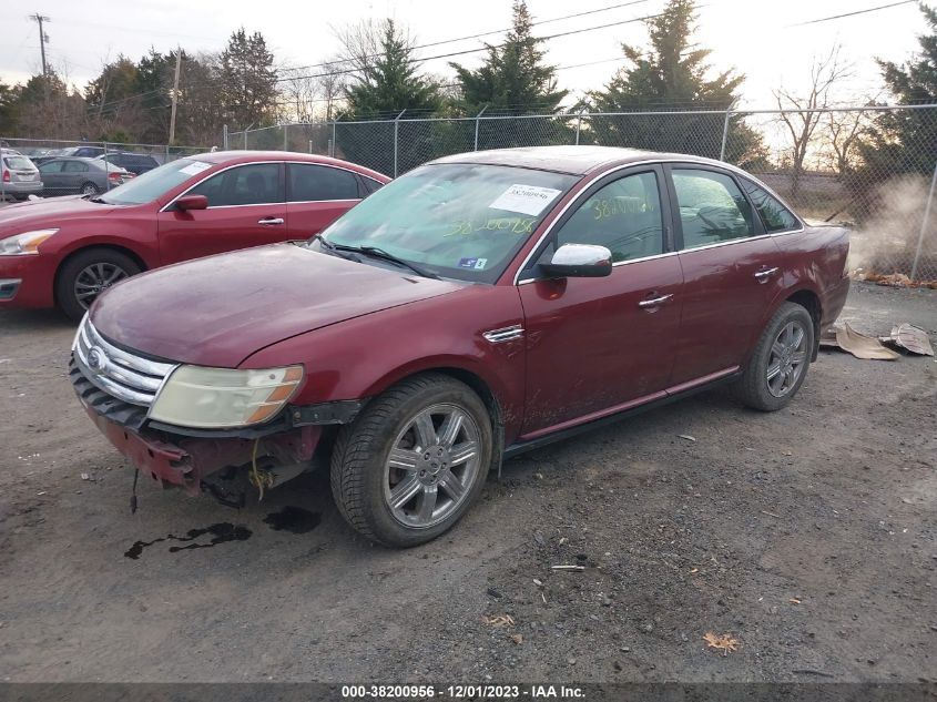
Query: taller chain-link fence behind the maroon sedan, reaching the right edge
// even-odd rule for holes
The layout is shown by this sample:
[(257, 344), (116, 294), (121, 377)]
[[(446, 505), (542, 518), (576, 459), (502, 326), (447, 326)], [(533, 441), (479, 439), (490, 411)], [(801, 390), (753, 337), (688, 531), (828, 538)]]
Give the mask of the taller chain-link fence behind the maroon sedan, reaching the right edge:
[(599, 144), (737, 165), (802, 216), (849, 226), (851, 266), (937, 281), (937, 105), (701, 110), (286, 124), (227, 133), (230, 149), (328, 154), (397, 176), (466, 151)]

